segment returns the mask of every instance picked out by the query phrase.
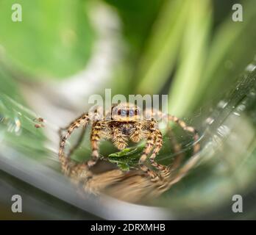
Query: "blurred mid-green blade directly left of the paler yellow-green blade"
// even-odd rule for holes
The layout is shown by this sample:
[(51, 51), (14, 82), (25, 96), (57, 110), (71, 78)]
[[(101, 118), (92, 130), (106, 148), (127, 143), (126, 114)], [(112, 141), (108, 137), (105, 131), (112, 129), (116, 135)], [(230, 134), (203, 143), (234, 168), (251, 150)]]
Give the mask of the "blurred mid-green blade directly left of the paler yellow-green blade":
[(138, 93), (158, 93), (174, 69), (190, 1), (166, 1), (139, 61)]

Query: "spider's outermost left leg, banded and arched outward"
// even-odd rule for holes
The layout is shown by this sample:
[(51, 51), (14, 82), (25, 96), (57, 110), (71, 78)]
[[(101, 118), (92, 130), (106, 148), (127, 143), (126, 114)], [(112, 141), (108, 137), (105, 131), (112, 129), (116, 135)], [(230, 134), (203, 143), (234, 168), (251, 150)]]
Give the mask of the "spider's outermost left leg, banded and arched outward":
[(59, 149), (59, 159), (60, 159), (60, 164), (62, 167), (63, 172), (68, 174), (69, 171), (69, 162), (70, 162), (70, 157), (66, 157), (64, 150), (65, 150), (65, 142), (68, 140), (68, 137), (71, 136), (71, 133), (74, 131), (74, 129), (79, 128), (79, 126), (87, 126), (89, 121), (88, 114), (83, 114), (82, 116), (78, 117), (74, 122), (72, 122), (68, 128), (66, 133), (64, 134), (63, 137), (60, 138), (60, 149)]

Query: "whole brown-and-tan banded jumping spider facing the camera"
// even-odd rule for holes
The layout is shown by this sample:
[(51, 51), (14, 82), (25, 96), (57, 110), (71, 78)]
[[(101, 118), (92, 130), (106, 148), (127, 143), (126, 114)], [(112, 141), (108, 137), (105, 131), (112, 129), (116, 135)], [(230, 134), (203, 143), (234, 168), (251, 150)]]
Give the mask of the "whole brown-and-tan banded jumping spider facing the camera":
[[(151, 119), (145, 118), (147, 115), (151, 115)], [(193, 140), (195, 144), (193, 145), (193, 152), (199, 151), (199, 134), (192, 126), (187, 126), (184, 121), (179, 120), (179, 118), (172, 115), (163, 114), (160, 111), (152, 111), (152, 109), (146, 109), (142, 112), (141, 109), (130, 103), (121, 103), (113, 105), (110, 112), (107, 112), (102, 118), (95, 118), (98, 112), (94, 112), (94, 115), (88, 115), (85, 113), (78, 117), (74, 122), (72, 122), (67, 128), (66, 132), (61, 137), (60, 140), (60, 162), (63, 165), (63, 171), (66, 168), (67, 158), (70, 157), (72, 150), (69, 152), (67, 157), (64, 157), (65, 143), (68, 137), (74, 129), (83, 127), (85, 130), (89, 123), (92, 125), (92, 130), (90, 133), (90, 144), (92, 148), (91, 159), (86, 162), (85, 168), (89, 169), (94, 164), (96, 164), (99, 159), (99, 141), (101, 139), (112, 140), (113, 145), (119, 150), (124, 149), (129, 140), (131, 142), (139, 142), (141, 140), (146, 140), (146, 145), (143, 149), (143, 153), (138, 162), (141, 170), (147, 173), (151, 178), (157, 178), (157, 174), (154, 171), (149, 170), (144, 164), (149, 154), (149, 161), (153, 167), (160, 172), (166, 170), (166, 166), (158, 164), (155, 162), (155, 157), (159, 153), (163, 145), (163, 137), (160, 129), (158, 128), (158, 122), (156, 117), (166, 117), (166, 120), (173, 121), (182, 127), (185, 131), (189, 131), (193, 134)], [(167, 125), (168, 126), (168, 125)], [(84, 132), (82, 133), (82, 135)]]

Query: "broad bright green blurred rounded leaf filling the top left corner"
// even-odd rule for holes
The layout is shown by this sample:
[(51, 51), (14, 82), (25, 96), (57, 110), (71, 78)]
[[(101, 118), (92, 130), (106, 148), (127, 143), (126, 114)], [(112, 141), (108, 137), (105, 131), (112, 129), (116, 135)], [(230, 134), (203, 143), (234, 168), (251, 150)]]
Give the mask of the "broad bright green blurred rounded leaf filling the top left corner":
[[(12, 21), (21, 4), (22, 21)], [(35, 78), (63, 78), (85, 67), (93, 46), (88, 1), (0, 1), (0, 45), (18, 70)]]

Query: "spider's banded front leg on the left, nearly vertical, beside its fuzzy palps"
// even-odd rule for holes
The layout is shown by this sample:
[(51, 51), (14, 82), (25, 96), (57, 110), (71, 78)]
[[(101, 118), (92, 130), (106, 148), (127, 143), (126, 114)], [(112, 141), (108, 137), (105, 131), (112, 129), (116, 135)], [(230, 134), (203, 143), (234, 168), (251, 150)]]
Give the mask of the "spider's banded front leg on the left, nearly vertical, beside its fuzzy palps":
[(90, 145), (92, 148), (91, 159), (87, 162), (88, 167), (92, 167), (99, 159), (99, 140), (101, 139), (102, 124), (100, 121), (93, 123), (90, 134)]

